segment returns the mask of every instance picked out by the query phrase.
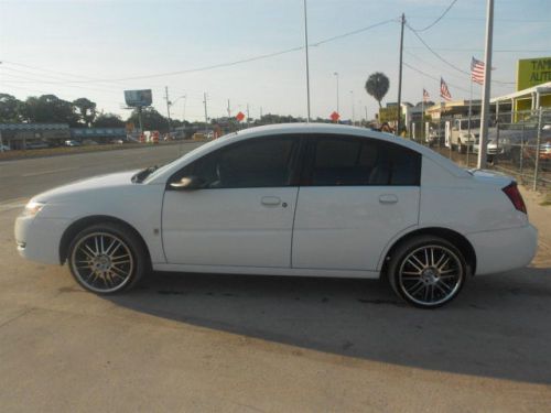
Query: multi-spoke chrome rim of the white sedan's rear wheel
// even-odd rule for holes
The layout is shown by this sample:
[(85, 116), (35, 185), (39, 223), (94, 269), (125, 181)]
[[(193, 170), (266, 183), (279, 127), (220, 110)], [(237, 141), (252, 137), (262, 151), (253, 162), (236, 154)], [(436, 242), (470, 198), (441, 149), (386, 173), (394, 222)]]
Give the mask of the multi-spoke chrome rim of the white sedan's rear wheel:
[(400, 265), (399, 283), (412, 302), (445, 303), (461, 287), (464, 273), (460, 258), (442, 246), (424, 246), (410, 252)]

